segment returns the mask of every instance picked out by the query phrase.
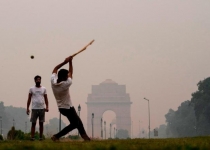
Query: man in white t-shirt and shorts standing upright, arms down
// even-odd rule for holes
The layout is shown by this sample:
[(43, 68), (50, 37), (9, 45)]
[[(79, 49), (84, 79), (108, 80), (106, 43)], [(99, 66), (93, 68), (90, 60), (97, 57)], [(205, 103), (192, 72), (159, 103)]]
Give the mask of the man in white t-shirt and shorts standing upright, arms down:
[[(35, 76), (34, 77), (35, 86), (31, 87), (28, 94), (28, 102), (27, 102), (27, 110), (26, 113), (29, 115), (30, 110), (29, 106), (32, 101), (32, 113), (31, 119), (32, 122), (31, 126), (31, 140), (34, 141), (34, 134), (35, 134), (35, 127), (37, 118), (39, 118), (39, 140), (42, 140), (43, 135), (43, 124), (45, 121), (45, 111), (48, 112), (48, 98), (47, 98), (47, 91), (46, 88), (41, 86), (41, 77)], [(46, 108), (45, 106), (46, 105)]]

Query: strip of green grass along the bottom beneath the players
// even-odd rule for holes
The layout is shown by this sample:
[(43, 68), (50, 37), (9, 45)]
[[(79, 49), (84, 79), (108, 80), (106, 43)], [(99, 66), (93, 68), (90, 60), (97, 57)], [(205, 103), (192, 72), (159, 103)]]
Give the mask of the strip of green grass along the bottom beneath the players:
[(0, 150), (210, 150), (210, 137), (171, 139), (95, 140), (91, 142), (66, 141), (1, 141)]

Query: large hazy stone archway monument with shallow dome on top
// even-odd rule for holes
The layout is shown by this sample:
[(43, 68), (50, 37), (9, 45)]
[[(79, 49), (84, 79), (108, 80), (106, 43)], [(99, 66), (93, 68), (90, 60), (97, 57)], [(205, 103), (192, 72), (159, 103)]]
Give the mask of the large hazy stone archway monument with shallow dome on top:
[(107, 79), (99, 85), (92, 85), (87, 98), (87, 132), (92, 136), (92, 114), (94, 114), (94, 137), (102, 138), (103, 113), (111, 110), (116, 114), (116, 128), (127, 130), (131, 135), (131, 104), (126, 86)]

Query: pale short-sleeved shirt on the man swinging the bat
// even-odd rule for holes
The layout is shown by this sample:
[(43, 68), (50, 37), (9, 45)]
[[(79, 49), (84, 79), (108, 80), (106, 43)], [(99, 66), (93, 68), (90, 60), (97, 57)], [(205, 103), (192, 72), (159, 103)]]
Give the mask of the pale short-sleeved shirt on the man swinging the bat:
[(57, 83), (57, 79), (57, 74), (53, 73), (51, 76), (51, 87), (57, 101), (58, 108), (69, 109), (73, 106), (69, 94), (69, 87), (72, 84), (72, 79), (68, 78), (66, 81), (62, 81), (60, 83)]

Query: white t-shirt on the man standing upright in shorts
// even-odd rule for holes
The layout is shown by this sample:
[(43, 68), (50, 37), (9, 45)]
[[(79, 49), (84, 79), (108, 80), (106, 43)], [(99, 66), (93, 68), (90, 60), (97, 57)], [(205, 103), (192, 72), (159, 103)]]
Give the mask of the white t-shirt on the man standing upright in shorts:
[(32, 109), (44, 109), (44, 95), (47, 94), (46, 88), (33, 86), (29, 89), (29, 93), (32, 94)]

